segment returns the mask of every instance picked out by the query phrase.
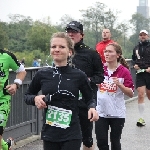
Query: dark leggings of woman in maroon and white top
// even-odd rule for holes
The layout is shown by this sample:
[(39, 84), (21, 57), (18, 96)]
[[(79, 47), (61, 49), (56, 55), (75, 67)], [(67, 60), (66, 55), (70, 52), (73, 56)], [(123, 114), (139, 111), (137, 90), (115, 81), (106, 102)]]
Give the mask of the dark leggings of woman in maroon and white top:
[(95, 122), (95, 133), (99, 150), (109, 150), (108, 130), (111, 127), (111, 150), (121, 150), (121, 134), (125, 118), (103, 118)]

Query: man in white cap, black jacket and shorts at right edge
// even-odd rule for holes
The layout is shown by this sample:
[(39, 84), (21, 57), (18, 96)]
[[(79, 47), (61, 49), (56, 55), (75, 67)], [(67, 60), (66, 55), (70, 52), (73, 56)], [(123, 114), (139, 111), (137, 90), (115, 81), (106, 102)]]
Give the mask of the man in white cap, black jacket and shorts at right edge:
[[(150, 42), (146, 30), (141, 30), (139, 34), (140, 42), (133, 49), (132, 60), (136, 69), (136, 88), (138, 92), (138, 109), (139, 120), (137, 126), (145, 126), (143, 112), (145, 109), (144, 96), (145, 92), (150, 99)], [(145, 91), (146, 89), (146, 91)]]

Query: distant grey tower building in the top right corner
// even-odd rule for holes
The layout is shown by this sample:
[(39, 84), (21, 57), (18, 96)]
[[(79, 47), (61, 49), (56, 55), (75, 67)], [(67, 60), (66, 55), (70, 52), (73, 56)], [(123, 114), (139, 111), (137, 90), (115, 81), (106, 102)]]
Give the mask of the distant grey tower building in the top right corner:
[(143, 17), (145, 18), (149, 18), (148, 0), (139, 0), (139, 6), (137, 6), (137, 13), (143, 15)]

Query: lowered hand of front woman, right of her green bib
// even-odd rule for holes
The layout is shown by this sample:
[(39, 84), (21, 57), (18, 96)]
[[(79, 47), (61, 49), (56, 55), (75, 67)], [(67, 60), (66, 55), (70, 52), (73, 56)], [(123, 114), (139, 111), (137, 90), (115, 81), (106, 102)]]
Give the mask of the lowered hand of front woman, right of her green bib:
[(90, 121), (97, 121), (99, 119), (98, 113), (95, 110), (95, 108), (90, 108), (88, 111), (88, 119), (90, 119)]

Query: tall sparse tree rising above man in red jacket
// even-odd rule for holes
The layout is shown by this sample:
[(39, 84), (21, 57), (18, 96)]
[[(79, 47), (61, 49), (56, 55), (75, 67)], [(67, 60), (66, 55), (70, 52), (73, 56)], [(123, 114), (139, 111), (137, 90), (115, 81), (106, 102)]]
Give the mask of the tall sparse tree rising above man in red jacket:
[(111, 9), (106, 8), (105, 4), (96, 2), (94, 6), (89, 7), (87, 10), (80, 10), (82, 13), (81, 22), (83, 22), (85, 30), (92, 31), (94, 34), (94, 45), (101, 40), (103, 28), (109, 28), (113, 35), (117, 31), (119, 11), (113, 12)]

